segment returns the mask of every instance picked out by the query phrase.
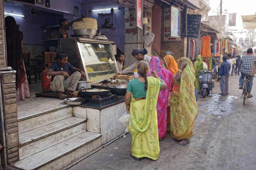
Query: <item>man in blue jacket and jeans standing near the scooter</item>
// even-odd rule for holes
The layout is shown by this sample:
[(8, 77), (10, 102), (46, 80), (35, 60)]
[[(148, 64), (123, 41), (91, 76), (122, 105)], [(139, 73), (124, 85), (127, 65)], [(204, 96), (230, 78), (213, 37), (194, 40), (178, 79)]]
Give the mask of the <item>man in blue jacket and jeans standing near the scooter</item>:
[(230, 77), (230, 63), (227, 62), (227, 56), (223, 56), (223, 62), (221, 64), (219, 75), (221, 76), (221, 95), (228, 94), (228, 85)]

